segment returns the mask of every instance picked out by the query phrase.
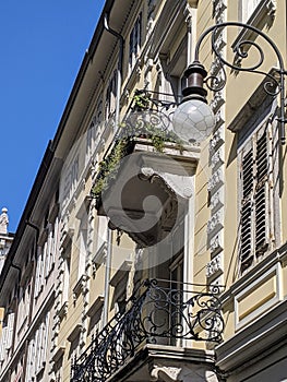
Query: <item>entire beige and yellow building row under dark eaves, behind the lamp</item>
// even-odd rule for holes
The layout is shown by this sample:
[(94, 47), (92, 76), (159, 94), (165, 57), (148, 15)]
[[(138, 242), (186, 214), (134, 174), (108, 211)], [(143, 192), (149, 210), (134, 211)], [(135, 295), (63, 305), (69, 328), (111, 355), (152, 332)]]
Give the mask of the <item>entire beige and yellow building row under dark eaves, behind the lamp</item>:
[[(286, 15), (106, 1), (2, 268), (0, 381), (287, 380), (280, 62), (261, 35), (286, 58)], [(215, 127), (187, 142), (172, 116), (214, 24)]]

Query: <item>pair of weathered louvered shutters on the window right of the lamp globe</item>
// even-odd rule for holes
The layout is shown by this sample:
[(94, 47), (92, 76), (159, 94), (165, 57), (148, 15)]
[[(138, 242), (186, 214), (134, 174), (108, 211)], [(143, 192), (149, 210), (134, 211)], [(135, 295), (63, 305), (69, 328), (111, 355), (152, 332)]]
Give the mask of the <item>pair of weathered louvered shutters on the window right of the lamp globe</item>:
[(270, 249), (272, 217), (272, 131), (263, 123), (239, 153), (240, 271)]

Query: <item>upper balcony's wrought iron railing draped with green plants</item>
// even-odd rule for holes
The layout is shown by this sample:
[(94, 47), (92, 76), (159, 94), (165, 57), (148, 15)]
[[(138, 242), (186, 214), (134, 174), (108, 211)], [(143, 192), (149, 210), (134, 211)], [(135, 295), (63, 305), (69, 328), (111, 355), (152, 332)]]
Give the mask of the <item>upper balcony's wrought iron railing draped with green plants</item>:
[[(165, 99), (162, 99), (162, 98)], [(134, 148), (136, 138), (150, 139), (155, 151), (162, 153), (166, 142), (172, 142), (180, 152), (183, 142), (174, 132), (171, 115), (177, 103), (171, 94), (160, 94), (137, 89), (127, 116), (107, 147), (106, 154), (98, 166), (98, 174), (91, 190), (99, 208), (101, 196), (116, 179), (122, 159), (130, 155)]]

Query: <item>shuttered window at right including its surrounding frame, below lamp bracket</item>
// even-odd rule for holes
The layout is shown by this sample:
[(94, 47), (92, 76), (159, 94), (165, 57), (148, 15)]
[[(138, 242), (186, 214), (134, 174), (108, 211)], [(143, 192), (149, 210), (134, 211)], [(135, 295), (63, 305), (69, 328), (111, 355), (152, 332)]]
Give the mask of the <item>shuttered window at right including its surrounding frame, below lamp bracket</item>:
[[(244, 136), (238, 147), (238, 253), (240, 274), (248, 272), (272, 251), (275, 238), (273, 224), (275, 214), (273, 184), (274, 171), (276, 171), (274, 127), (270, 115), (261, 122), (253, 122), (253, 131), (249, 131), (249, 134)], [(264, 136), (265, 146), (262, 148), (261, 144)], [(261, 152), (266, 150), (264, 159), (258, 156), (260, 150)], [(251, 156), (251, 158), (247, 158), (248, 156)], [(262, 169), (261, 166), (263, 165), (267, 168)], [(261, 171), (258, 171), (259, 168), (261, 168)], [(262, 170), (265, 171), (263, 175)], [(252, 181), (252, 184), (249, 183), (250, 181)], [(262, 200), (256, 199), (259, 192), (264, 194), (264, 206), (262, 206)], [(244, 224), (244, 227), (242, 224)], [(263, 230), (265, 231), (264, 237), (262, 237)]]

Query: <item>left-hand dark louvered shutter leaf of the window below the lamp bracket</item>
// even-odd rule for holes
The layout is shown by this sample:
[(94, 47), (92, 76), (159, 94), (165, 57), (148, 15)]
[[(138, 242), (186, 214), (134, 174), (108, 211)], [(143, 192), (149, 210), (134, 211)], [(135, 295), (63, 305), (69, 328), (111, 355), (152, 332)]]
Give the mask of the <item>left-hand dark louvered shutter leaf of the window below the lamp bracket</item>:
[(253, 150), (242, 158), (242, 199), (241, 199), (241, 271), (252, 263), (252, 193), (253, 193)]

